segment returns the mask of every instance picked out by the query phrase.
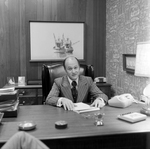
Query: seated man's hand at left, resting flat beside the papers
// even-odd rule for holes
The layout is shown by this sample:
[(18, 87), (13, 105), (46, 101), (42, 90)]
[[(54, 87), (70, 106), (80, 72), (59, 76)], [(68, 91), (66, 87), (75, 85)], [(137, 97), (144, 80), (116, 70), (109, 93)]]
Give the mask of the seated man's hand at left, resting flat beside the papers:
[(62, 98), (61, 103), (65, 110), (73, 110), (74, 103), (68, 98)]

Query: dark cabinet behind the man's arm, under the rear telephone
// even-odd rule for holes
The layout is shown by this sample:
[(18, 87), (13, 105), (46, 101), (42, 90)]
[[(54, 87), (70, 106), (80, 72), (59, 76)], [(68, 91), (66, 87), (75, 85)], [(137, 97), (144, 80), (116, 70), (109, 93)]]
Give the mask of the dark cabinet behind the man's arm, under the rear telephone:
[(109, 83), (96, 83), (97, 87), (108, 96), (108, 99), (111, 98), (111, 84)]

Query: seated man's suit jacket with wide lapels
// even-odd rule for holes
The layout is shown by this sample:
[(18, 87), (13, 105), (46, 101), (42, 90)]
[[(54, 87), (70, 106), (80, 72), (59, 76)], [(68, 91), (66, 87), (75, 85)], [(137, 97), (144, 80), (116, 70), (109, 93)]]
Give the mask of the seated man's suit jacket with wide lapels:
[[(91, 77), (80, 75), (77, 90), (77, 102), (88, 102), (88, 95), (90, 95), (94, 99), (96, 99), (97, 97), (101, 97), (105, 102), (108, 101), (107, 95), (105, 95), (96, 86)], [(71, 86), (67, 76), (63, 76), (54, 80), (52, 89), (46, 98), (46, 103), (50, 105), (57, 105), (58, 99), (60, 97), (66, 97), (73, 101)]]

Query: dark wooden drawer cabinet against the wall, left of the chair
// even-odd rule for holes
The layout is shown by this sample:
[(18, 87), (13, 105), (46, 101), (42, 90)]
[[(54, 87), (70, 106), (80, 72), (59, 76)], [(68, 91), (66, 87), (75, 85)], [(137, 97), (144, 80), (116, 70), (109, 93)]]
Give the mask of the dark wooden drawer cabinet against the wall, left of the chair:
[(35, 95), (19, 95), (20, 105), (42, 104), (42, 97), (41, 99), (38, 98), (38, 90), (42, 89), (42, 85), (18, 85), (18, 83), (15, 83), (14, 85), (6, 84), (4, 87), (15, 87), (18, 90), (34, 89)]

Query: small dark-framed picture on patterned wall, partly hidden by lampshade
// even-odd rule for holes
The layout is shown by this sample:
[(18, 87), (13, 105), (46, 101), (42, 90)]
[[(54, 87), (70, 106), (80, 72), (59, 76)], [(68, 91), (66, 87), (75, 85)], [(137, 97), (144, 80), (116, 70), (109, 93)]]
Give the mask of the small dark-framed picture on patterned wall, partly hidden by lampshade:
[(127, 73), (134, 74), (135, 72), (135, 54), (123, 54), (123, 70)]

